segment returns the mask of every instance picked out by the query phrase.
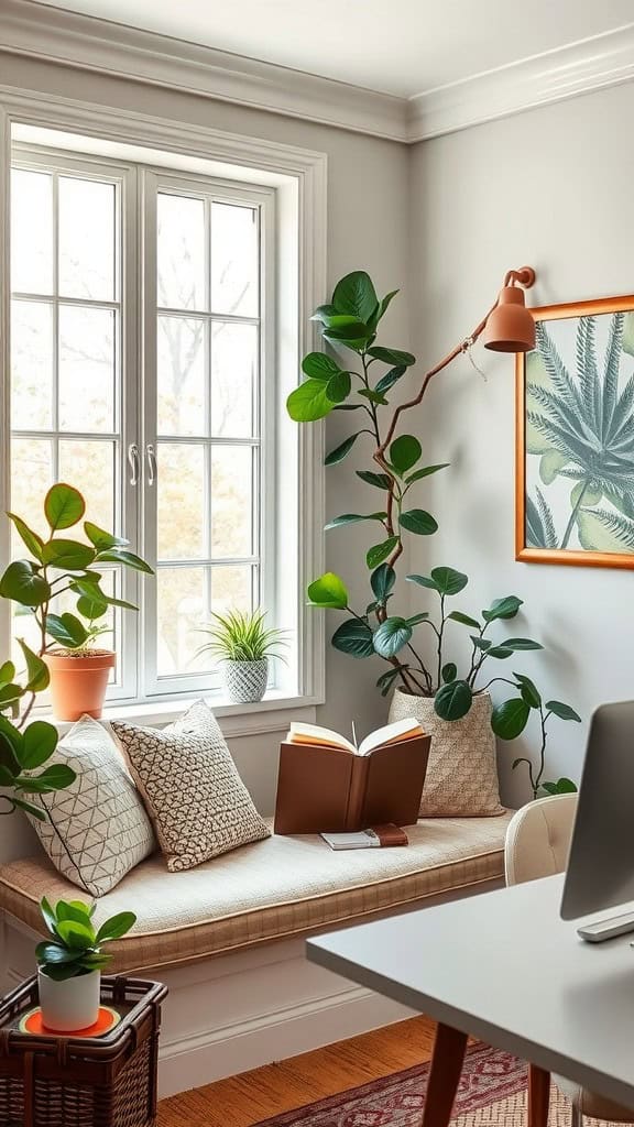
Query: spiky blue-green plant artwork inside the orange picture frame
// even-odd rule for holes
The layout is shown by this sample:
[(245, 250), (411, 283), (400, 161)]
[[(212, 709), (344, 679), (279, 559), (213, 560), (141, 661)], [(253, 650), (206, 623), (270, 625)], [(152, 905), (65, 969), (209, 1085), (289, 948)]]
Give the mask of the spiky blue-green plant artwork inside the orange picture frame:
[(576, 529), (588, 551), (634, 551), (634, 374), (619, 387), (622, 356), (633, 353), (626, 316), (632, 317), (618, 312), (610, 319), (601, 367), (597, 318), (579, 319), (574, 375), (545, 322), (537, 322), (537, 352), (528, 362), (529, 451), (541, 455), (545, 486), (557, 477), (573, 485), (561, 535), (541, 490), (527, 498), (531, 547), (565, 549)]

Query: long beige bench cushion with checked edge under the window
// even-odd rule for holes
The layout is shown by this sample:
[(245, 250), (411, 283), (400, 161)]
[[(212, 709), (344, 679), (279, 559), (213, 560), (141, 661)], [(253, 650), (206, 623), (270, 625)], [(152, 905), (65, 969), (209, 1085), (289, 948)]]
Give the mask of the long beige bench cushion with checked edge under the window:
[[(420, 820), (403, 849), (334, 852), (317, 835), (272, 836), (177, 873), (155, 854), (98, 900), (95, 919), (137, 912), (109, 946), (114, 969), (190, 962), (500, 879), (510, 817)], [(43, 895), (77, 897), (44, 855), (0, 869), (0, 908), (36, 931)]]

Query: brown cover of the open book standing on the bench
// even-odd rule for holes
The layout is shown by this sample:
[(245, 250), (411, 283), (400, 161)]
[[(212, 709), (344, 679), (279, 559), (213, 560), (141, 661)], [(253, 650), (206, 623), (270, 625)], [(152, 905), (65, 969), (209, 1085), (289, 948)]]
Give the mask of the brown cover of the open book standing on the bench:
[(352, 833), (419, 818), (431, 738), (355, 755), (320, 744), (282, 743), (276, 834)]

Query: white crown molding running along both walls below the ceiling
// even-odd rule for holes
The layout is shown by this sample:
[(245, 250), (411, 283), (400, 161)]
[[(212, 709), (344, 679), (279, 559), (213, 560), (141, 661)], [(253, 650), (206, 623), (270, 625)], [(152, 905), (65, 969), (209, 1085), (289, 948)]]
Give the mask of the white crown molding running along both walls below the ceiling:
[(0, 8), (0, 55), (41, 59), (405, 144), (634, 79), (634, 24), (407, 99), (36, 0), (1, 0)]

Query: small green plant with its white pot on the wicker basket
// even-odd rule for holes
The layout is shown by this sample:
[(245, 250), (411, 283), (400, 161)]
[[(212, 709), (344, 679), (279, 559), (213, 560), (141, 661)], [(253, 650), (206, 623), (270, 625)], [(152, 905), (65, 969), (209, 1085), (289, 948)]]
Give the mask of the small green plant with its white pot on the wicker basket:
[(102, 970), (112, 956), (104, 947), (137, 923), (133, 912), (120, 912), (100, 928), (93, 923), (95, 905), (43, 897), (39, 909), (50, 938), (35, 949), (42, 1021), (47, 1029), (89, 1029), (99, 1015)]

